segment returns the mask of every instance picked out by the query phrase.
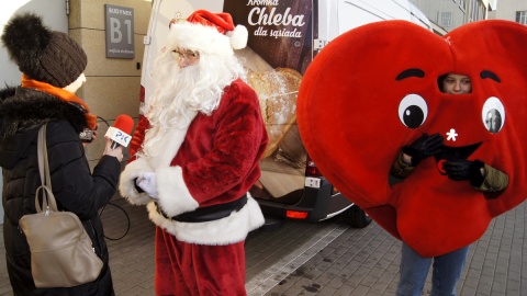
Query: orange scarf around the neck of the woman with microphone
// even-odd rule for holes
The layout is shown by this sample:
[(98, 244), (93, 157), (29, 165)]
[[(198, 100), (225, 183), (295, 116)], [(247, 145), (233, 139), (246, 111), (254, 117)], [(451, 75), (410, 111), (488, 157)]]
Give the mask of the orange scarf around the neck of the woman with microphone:
[(22, 88), (29, 88), (29, 89), (36, 89), (45, 93), (49, 93), (52, 95), (57, 96), (58, 99), (65, 101), (65, 102), (71, 102), (77, 105), (80, 105), (82, 110), (85, 111), (85, 116), (86, 121), (88, 122), (88, 127), (90, 129), (96, 129), (97, 126), (97, 116), (94, 114), (90, 113), (90, 109), (88, 105), (85, 103), (85, 101), (80, 100), (77, 95), (74, 93), (56, 88), (52, 84), (48, 84), (46, 82), (42, 81), (36, 81), (31, 78), (29, 78), (26, 75), (22, 75)]

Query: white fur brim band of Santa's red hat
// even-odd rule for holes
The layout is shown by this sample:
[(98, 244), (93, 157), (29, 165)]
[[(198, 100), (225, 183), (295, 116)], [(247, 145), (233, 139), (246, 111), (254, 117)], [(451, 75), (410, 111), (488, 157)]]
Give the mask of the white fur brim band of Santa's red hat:
[(221, 56), (234, 55), (231, 38), (217, 32), (214, 26), (182, 22), (170, 26), (167, 47), (173, 50), (178, 47)]

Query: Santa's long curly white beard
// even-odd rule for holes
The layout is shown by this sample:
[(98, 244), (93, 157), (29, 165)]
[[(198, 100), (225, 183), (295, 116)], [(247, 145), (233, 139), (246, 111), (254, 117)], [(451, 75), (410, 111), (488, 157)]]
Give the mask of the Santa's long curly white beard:
[(156, 61), (157, 88), (149, 98), (145, 116), (150, 123), (143, 143), (143, 156), (158, 155), (156, 145), (171, 127), (187, 129), (193, 116), (210, 115), (220, 105), (225, 87), (245, 78), (240, 64), (232, 58), (201, 55), (198, 64), (179, 68), (170, 50)]

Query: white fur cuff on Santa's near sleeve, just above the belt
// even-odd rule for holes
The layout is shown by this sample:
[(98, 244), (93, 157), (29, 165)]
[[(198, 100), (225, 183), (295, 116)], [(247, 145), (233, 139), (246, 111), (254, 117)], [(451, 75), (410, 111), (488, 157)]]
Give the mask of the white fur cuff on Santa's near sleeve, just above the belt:
[(157, 202), (168, 216), (191, 212), (200, 206), (184, 183), (181, 167), (157, 169), (156, 182)]

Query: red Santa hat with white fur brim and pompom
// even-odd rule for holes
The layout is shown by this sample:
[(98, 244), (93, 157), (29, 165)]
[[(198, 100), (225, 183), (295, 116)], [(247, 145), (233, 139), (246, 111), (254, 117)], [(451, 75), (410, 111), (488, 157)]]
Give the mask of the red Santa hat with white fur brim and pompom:
[(198, 10), (186, 22), (170, 25), (167, 46), (227, 56), (247, 46), (247, 29), (235, 26), (231, 14)]

